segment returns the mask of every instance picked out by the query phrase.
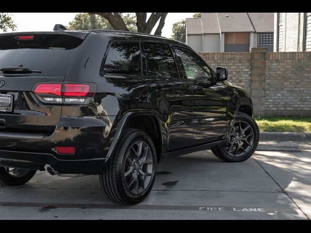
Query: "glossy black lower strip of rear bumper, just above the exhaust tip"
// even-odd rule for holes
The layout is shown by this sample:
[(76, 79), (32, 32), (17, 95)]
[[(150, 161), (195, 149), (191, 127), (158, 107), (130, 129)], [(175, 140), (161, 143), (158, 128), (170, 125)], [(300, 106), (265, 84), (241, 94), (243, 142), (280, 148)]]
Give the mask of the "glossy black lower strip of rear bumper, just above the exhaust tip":
[(0, 166), (43, 171), (45, 165), (50, 165), (60, 174), (96, 175), (103, 171), (105, 162), (105, 158), (59, 160), (48, 153), (0, 150)]

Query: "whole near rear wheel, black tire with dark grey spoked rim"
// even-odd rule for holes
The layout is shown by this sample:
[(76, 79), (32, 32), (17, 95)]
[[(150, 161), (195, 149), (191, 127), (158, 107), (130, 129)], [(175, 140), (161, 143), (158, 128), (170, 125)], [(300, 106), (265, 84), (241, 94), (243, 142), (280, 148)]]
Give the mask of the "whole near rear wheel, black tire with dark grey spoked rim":
[(126, 129), (114, 157), (100, 174), (102, 189), (116, 203), (134, 205), (143, 201), (155, 182), (156, 150), (150, 136)]

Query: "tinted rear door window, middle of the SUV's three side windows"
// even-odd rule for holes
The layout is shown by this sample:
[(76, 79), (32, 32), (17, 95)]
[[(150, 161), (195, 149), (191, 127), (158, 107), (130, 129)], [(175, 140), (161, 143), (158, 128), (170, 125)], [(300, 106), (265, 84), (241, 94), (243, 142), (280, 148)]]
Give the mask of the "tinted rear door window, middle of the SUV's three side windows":
[(179, 78), (173, 54), (168, 45), (144, 43), (144, 50), (148, 76)]

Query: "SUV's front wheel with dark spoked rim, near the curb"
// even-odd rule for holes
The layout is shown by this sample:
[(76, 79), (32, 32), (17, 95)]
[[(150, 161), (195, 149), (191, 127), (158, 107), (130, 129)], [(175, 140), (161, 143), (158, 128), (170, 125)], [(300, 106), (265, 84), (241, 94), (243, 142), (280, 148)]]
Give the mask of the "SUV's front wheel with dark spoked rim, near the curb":
[(243, 162), (250, 158), (259, 143), (259, 129), (256, 121), (247, 114), (238, 113), (227, 143), (212, 152), (226, 162)]

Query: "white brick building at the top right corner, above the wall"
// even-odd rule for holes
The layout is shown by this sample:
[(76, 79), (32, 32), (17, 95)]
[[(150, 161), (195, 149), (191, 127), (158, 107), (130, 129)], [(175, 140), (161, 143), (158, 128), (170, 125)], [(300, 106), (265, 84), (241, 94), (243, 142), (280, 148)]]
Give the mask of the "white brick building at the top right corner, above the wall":
[(274, 13), (274, 51), (311, 51), (311, 13)]

